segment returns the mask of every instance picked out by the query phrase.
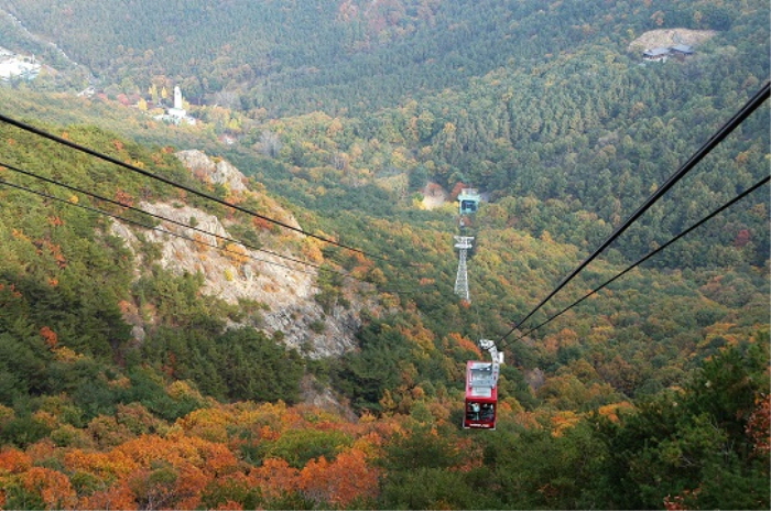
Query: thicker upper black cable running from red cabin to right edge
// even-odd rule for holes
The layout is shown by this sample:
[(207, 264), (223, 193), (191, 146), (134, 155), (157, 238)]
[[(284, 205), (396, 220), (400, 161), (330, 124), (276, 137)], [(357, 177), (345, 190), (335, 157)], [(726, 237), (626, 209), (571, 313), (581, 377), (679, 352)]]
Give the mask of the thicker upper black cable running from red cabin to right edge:
[(523, 319), (515, 323), (511, 329), (504, 334), (498, 343), (503, 343), (511, 334), (513, 334), (524, 322), (530, 319), (533, 314), (541, 309), (554, 295), (562, 291), (568, 282), (571, 282), (578, 273), (580, 273), (591, 261), (597, 259), (597, 257), (606, 249), (610, 243), (612, 243), (617, 238), (619, 238), (632, 224), (634, 224), (648, 209), (653, 206), (661, 197), (666, 194), (680, 180), (682, 180), (691, 170), (696, 166), (715, 146), (720, 143), (728, 134), (730, 134), (739, 124), (741, 124), (745, 119), (747, 119), (752, 112), (754, 112), (760, 105), (763, 104), (769, 98), (771, 91), (770, 83), (767, 81), (758, 93), (756, 93), (745, 106), (731, 117), (720, 129), (718, 129), (715, 134), (713, 134), (707, 142), (704, 143), (672, 176), (670, 176), (666, 182), (661, 185), (645, 202), (627, 218), (619, 227), (617, 227), (610, 236), (597, 248), (588, 258), (586, 258), (575, 270), (573, 270), (567, 276), (565, 276), (557, 286), (546, 295)]

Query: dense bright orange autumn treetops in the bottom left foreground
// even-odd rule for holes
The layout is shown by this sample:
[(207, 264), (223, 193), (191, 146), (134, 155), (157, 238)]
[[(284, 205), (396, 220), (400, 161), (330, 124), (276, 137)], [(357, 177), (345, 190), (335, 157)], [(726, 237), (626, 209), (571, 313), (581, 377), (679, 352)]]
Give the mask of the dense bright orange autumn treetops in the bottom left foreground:
[[(133, 412), (123, 406), (121, 413)], [(163, 434), (129, 435), (102, 449), (44, 439), (25, 450), (0, 450), (0, 507), (13, 509), (20, 496), (44, 509), (253, 509), (292, 498), (322, 508), (371, 502), (381, 475), (373, 461), (388, 430), (308, 406), (239, 403), (198, 410)], [(270, 453), (297, 431), (337, 432), (329, 438), (347, 441), (301, 468), (271, 455), (245, 456)], [(56, 468), (40, 466), (54, 459)]]

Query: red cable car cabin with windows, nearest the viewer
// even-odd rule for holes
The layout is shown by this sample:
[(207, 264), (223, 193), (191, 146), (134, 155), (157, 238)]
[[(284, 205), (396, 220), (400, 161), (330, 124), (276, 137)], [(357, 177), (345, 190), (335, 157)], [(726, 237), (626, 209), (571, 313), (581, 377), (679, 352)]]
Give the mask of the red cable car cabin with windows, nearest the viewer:
[(495, 430), (498, 406), (498, 363), (469, 360), (466, 365), (466, 430)]

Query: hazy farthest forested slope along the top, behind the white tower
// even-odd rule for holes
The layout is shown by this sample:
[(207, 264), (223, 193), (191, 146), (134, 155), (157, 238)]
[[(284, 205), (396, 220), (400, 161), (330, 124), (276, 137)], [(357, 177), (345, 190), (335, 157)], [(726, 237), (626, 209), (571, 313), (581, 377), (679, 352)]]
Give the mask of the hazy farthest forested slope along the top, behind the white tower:
[[(171, 79), (195, 101), (229, 91), (246, 110), (281, 116), (360, 115), (465, 88), (469, 78), (502, 66), (543, 65), (586, 44), (626, 54), (630, 39), (652, 29), (727, 32), (765, 7), (716, 0), (0, 2), (20, 22), (3, 20), (17, 34), (9, 39), (29, 39), (23, 26), (126, 93)], [(764, 24), (762, 17), (756, 22)], [(753, 37), (747, 44), (767, 43)], [(61, 58), (44, 44), (40, 51)]]

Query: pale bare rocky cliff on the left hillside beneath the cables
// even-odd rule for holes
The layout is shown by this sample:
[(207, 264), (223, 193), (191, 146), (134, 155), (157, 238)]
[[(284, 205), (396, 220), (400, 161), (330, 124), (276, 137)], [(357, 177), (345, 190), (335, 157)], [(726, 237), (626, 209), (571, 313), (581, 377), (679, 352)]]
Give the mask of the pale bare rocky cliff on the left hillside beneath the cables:
[[(249, 180), (230, 163), (215, 161), (200, 151), (183, 151), (177, 156), (202, 182), (224, 185), (240, 196), (257, 194), (261, 204), (270, 205), (271, 213), (267, 216), (300, 227), (290, 211), (264, 193), (252, 189)], [(352, 305), (335, 306), (325, 314), (314, 300), (318, 292), (315, 286), (318, 261), (314, 261), (315, 265), (295, 262), (308, 259), (296, 252), (313, 240), (284, 229), (285, 232), (262, 236), (261, 249), (256, 250), (251, 243), (230, 241), (237, 238), (228, 231), (232, 220), (180, 203), (141, 203), (140, 207), (173, 221), (161, 221), (159, 230), (142, 230), (143, 241), (134, 227), (113, 222), (112, 232), (126, 240), (135, 256), (138, 278), (146, 271), (149, 262), (143, 260), (141, 243), (155, 243), (161, 256), (153, 263), (180, 274), (199, 272), (205, 279), (203, 293), (229, 303), (250, 300), (263, 304), (265, 311), (257, 328), (269, 335), (283, 333), (287, 347), (297, 348), (311, 358), (339, 356), (355, 347), (355, 334), (360, 326), (358, 312), (363, 305), (355, 294), (360, 290), (345, 290)], [(321, 257), (317, 250), (315, 253), (316, 258)], [(134, 336), (141, 339), (145, 325), (137, 317), (132, 324)]]

